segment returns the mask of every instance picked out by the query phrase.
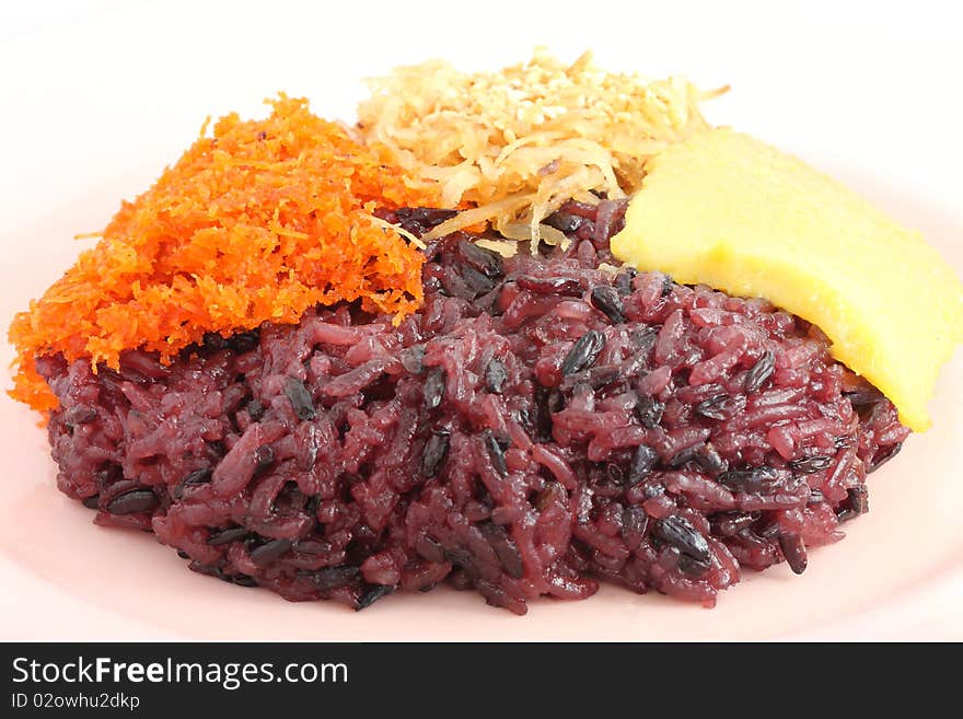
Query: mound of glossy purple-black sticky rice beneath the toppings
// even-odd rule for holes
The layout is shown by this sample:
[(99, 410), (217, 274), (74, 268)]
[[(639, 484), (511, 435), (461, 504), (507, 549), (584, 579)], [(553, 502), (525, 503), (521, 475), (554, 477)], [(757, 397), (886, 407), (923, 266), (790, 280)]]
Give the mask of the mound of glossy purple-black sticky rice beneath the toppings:
[(43, 358), (58, 486), (195, 571), (355, 608), (448, 581), (523, 614), (600, 579), (712, 605), (742, 567), (801, 572), (908, 430), (816, 327), (613, 271), (623, 212), (567, 204), (537, 257), (431, 243), (397, 327), (341, 305), (170, 367)]

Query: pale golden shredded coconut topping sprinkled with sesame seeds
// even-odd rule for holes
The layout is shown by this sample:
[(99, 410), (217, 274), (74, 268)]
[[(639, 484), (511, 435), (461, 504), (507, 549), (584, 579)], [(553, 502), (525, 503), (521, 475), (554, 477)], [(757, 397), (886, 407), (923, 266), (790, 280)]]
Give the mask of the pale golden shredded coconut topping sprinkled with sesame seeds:
[(636, 192), (649, 158), (707, 128), (698, 103), (727, 90), (605, 72), (589, 53), (569, 66), (542, 49), (500, 72), (469, 74), (432, 60), (370, 84), (358, 111), (361, 135), (438, 181), (445, 207), (475, 206), (426, 239), (488, 221), (533, 246), (565, 242), (542, 220), (566, 200)]

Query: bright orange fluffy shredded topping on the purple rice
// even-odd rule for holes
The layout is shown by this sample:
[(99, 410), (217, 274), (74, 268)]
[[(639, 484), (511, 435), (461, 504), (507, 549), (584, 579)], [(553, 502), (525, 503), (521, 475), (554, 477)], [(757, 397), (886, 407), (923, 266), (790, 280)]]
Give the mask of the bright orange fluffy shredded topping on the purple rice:
[(221, 118), (14, 317), (13, 398), (57, 406), (40, 356), (116, 369), (144, 349), (167, 362), (206, 333), (294, 323), (318, 303), (360, 299), (396, 318), (420, 304), (421, 253), (371, 212), (437, 206), (434, 188), (305, 100), (269, 104), (264, 120)]

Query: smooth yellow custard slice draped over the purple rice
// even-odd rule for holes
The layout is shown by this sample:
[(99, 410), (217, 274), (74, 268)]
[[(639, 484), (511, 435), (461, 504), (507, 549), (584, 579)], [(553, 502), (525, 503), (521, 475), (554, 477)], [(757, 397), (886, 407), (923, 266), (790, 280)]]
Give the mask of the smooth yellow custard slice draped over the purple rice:
[(763, 297), (817, 325), (915, 431), (963, 341), (963, 287), (923, 236), (797, 158), (729, 128), (650, 161), (616, 257)]

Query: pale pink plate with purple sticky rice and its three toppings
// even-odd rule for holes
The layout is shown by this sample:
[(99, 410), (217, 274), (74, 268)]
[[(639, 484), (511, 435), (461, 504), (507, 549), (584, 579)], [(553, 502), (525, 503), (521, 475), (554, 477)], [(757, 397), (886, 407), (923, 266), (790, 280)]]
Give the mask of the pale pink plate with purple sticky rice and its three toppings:
[(209, 118), (8, 250), (0, 550), (216, 638), (765, 637), (952, 575), (959, 247), (728, 90), (537, 49)]

